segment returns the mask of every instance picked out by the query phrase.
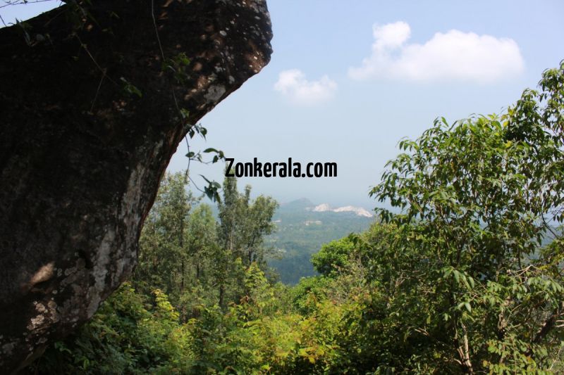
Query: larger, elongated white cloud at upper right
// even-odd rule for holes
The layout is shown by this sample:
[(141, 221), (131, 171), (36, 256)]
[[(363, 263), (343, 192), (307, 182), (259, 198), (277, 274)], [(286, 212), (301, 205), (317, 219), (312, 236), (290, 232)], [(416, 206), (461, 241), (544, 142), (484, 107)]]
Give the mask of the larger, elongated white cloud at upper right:
[(408, 44), (405, 22), (373, 26), (372, 56), (349, 68), (354, 80), (463, 80), (489, 83), (519, 75), (525, 63), (513, 39), (450, 30), (424, 44)]

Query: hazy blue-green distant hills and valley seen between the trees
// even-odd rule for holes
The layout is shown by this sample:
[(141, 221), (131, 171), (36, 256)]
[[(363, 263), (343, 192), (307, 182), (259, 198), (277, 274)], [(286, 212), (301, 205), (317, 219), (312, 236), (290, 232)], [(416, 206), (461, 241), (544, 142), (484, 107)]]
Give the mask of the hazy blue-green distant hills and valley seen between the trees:
[(331, 208), (306, 198), (284, 203), (274, 214), (277, 231), (268, 240), (280, 259), (269, 259), (268, 264), (284, 284), (296, 284), (301, 277), (313, 276), (316, 272), (310, 262), (312, 254), (324, 243), (364, 231), (374, 220), (372, 215), (364, 208)]

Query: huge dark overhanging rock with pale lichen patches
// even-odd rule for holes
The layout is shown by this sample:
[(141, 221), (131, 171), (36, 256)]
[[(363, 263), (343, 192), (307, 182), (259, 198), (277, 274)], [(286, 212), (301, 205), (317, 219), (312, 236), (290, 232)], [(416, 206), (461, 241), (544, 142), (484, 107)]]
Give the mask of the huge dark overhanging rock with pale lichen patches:
[(83, 11), (69, 3), (0, 30), (2, 374), (128, 277), (189, 124), (271, 54), (264, 0), (93, 0)]

